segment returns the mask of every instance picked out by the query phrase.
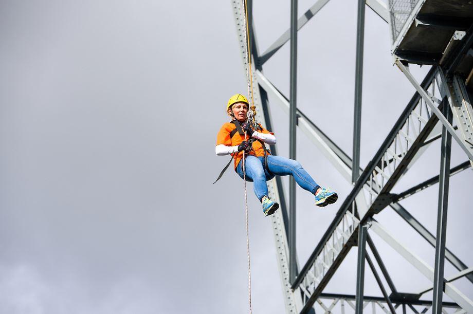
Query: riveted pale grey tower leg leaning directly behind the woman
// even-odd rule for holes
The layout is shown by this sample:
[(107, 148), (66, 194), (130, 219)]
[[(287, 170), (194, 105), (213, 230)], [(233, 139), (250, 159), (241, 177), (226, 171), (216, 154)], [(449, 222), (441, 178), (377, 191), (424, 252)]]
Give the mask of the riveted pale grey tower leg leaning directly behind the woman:
[[(243, 68), (246, 71), (246, 50), (245, 50), (245, 23), (244, 23), (244, 8), (242, 6), (241, 0), (231, 0), (231, 5), (233, 8), (233, 14), (235, 19), (235, 25), (237, 27), (237, 35), (239, 39), (239, 46), (241, 51), (242, 63)], [(250, 13), (250, 15), (252, 15)], [(258, 58), (258, 44), (257, 44), (257, 36), (254, 33), (254, 25), (251, 27), (252, 32), (252, 54), (253, 60)], [(253, 86), (258, 86), (258, 80), (255, 75), (256, 68), (254, 62), (252, 63), (253, 66)], [(260, 68), (261, 69), (261, 68)], [(246, 75), (245, 75), (246, 76)], [(257, 120), (261, 121), (263, 126), (271, 125), (270, 115), (269, 112), (266, 112), (268, 109), (267, 104), (265, 101), (261, 101), (262, 97), (260, 96), (260, 89), (255, 88), (253, 90), (253, 98), (254, 104), (257, 107)], [(265, 97), (266, 95), (264, 95)], [(276, 147), (272, 147), (275, 149)], [(275, 239), (276, 244), (276, 254), (277, 254), (277, 262), (278, 262), (278, 269), (280, 274), (280, 279), (282, 283), (282, 292), (284, 295), (284, 304), (286, 308), (286, 313), (298, 313), (299, 308), (301, 307), (301, 298), (299, 290), (296, 289), (293, 291), (291, 289), (291, 284), (289, 282), (289, 249), (287, 245), (287, 234), (286, 234), (286, 222), (287, 219), (284, 219), (284, 208), (285, 208), (285, 201), (284, 201), (284, 193), (282, 189), (281, 182), (276, 179), (272, 179), (267, 182), (269, 197), (274, 199), (275, 201), (281, 204), (281, 210), (276, 211), (274, 215), (271, 215), (271, 226), (273, 231), (273, 236)], [(285, 221), (286, 220), (286, 221)]]

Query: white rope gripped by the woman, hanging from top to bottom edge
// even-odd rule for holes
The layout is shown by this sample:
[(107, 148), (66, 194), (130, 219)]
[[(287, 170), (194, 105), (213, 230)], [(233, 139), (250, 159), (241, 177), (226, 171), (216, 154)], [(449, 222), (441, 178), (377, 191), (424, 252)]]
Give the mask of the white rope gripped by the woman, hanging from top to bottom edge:
[[(246, 32), (245, 32), (245, 40), (246, 40), (246, 46), (245, 46), (245, 60), (246, 60), (246, 81), (248, 85), (248, 94), (251, 96), (250, 97), (250, 108), (248, 108), (248, 116), (247, 116), (247, 122), (250, 117), (252, 117), (252, 120), (254, 120), (254, 115), (251, 110), (251, 104), (254, 105), (254, 99), (253, 99), (253, 73), (252, 73), (252, 67), (251, 67), (251, 54), (250, 54), (250, 41), (249, 41), (249, 29), (248, 29), (248, 9), (246, 6), (246, 0), (242, 0), (243, 5), (245, 7), (245, 14), (243, 19), (245, 20), (245, 26), (246, 26)], [(245, 131), (245, 141), (246, 141), (246, 131)], [(248, 256), (248, 303), (249, 303), (249, 309), (250, 309), (250, 314), (252, 313), (251, 309), (251, 263), (250, 263), (250, 241), (249, 241), (249, 233), (248, 233), (248, 197), (246, 193), (246, 171), (245, 171), (245, 151), (243, 151), (243, 185), (245, 189), (245, 222), (246, 222), (246, 255)]]

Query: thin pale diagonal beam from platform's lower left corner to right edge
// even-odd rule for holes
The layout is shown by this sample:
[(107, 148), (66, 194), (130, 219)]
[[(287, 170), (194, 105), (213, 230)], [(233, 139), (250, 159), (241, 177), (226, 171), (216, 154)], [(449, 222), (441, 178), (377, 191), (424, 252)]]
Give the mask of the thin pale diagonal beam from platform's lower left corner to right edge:
[[(442, 112), (440, 112), (439, 108), (437, 108), (437, 106), (434, 104), (432, 96), (429, 96), (427, 94), (427, 92), (422, 88), (422, 86), (411, 75), (411, 73), (409, 72), (409, 69), (407, 69), (404, 66), (404, 64), (402, 64), (401, 61), (396, 60), (396, 65), (399, 67), (399, 69), (401, 69), (401, 71), (407, 77), (409, 82), (411, 82), (411, 84), (417, 90), (417, 93), (419, 93), (422, 96), (422, 98), (425, 100), (426, 104), (429, 105), (430, 109), (435, 114), (435, 116), (437, 116), (438, 119), (442, 122), (442, 124), (447, 128), (447, 131), (457, 141), (457, 143), (460, 145), (461, 149), (465, 152), (465, 154), (468, 156), (468, 158), (470, 160), (473, 160), (473, 151), (470, 150), (469, 147), (465, 145), (464, 141), (462, 139), (460, 139), (460, 137), (455, 132), (453, 126), (446, 120), (444, 115), (442, 115)], [(443, 75), (443, 70), (441, 68), (438, 68), (438, 73), (441, 76), (441, 80), (445, 82), (446, 81), (445, 76)]]

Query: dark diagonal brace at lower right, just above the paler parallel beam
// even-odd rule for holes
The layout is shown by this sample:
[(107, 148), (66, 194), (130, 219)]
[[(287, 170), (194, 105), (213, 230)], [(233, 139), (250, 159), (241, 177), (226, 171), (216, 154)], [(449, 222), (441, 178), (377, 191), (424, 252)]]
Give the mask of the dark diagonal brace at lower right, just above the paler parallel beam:
[[(401, 216), (417, 233), (419, 233), (426, 241), (432, 246), (435, 247), (435, 236), (430, 233), (427, 228), (425, 228), (417, 219), (415, 219), (401, 204), (393, 203), (391, 208)], [(465, 270), (468, 267), (453, 254), (448, 248), (445, 249), (445, 258), (458, 270)], [(469, 274), (467, 276), (468, 280), (473, 283), (473, 275)]]

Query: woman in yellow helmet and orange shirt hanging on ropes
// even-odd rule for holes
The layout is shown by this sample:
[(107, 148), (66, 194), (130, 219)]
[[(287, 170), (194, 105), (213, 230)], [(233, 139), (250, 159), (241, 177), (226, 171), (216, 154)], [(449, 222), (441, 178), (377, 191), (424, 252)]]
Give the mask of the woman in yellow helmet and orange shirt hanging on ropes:
[(254, 194), (262, 203), (264, 215), (269, 216), (279, 208), (277, 202), (268, 198), (266, 186), (266, 181), (274, 178), (275, 175), (292, 175), (302, 189), (315, 195), (317, 206), (323, 207), (336, 202), (337, 193), (321, 188), (299, 162), (270, 155), (264, 143), (274, 145), (276, 137), (260, 124), (257, 130), (253, 130), (251, 124), (245, 122), (248, 109), (248, 100), (241, 94), (233, 95), (228, 100), (227, 114), (232, 121), (225, 123), (217, 134), (215, 154), (232, 155), (234, 169), (242, 179), (242, 160), (245, 154), (246, 180), (253, 181)]

